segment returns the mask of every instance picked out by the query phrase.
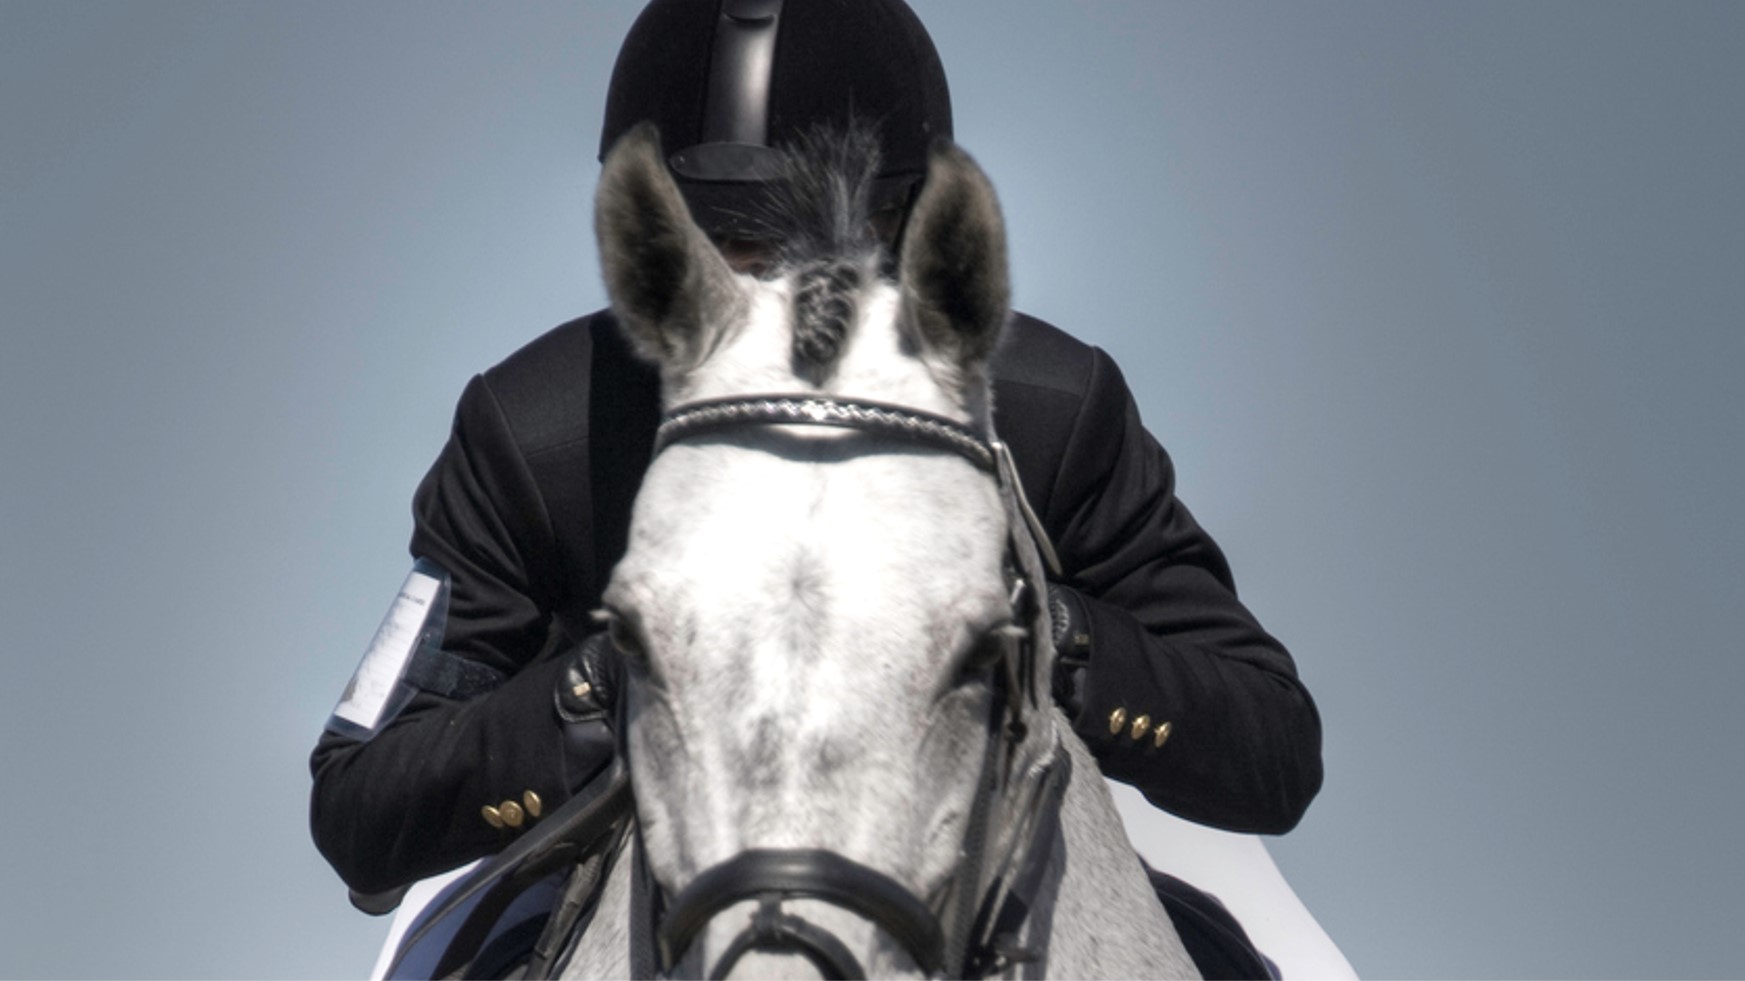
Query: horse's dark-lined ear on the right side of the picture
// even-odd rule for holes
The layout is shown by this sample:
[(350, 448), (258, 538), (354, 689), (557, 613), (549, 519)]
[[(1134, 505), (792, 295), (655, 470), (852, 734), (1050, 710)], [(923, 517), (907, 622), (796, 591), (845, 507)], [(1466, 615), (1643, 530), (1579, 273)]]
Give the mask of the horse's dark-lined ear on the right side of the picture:
[(955, 143), (934, 145), (899, 276), (925, 347), (963, 367), (988, 360), (1012, 302), (1005, 220), (988, 175)]

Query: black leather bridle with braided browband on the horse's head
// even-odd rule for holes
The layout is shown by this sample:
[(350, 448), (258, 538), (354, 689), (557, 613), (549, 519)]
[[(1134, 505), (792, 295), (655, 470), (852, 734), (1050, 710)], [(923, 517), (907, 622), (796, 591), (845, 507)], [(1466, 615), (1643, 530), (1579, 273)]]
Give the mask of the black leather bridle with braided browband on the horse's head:
[[(1057, 569), (1047, 534), (1024, 501), (1017, 468), (998, 440), (928, 412), (866, 400), (813, 394), (768, 394), (693, 401), (665, 414), (654, 436), (654, 454), (705, 433), (761, 426), (834, 426), (953, 452), (993, 477), (1007, 510), (1007, 580), (1014, 623), (1000, 630), (1003, 655), (989, 688), (988, 740), (981, 777), (956, 875), (941, 909), (906, 885), (845, 855), (818, 848), (754, 848), (700, 873), (665, 902), (654, 927), (656, 967), (668, 974), (708, 922), (738, 902), (757, 902), (750, 923), (728, 944), (710, 969), (726, 976), (750, 951), (792, 951), (806, 957), (825, 978), (864, 978), (866, 971), (846, 944), (829, 930), (789, 913), (789, 899), (824, 901), (876, 923), (899, 943), (928, 976), (988, 976), (1038, 951), (1019, 950), (1017, 937), (1035, 904), (1059, 834), (1059, 806), (1070, 777), (1070, 759), (1056, 740), (1024, 772), (1014, 772), (1030, 731), (1031, 712), (1047, 710), (1049, 691), (1038, 691), (1037, 644), (1047, 642), (1044, 623), (1044, 562)], [(995, 803), (1014, 791), (1026, 799), (1002, 840)], [(637, 848), (640, 855), (640, 847)], [(640, 859), (639, 859), (640, 861)], [(984, 885), (986, 883), (986, 885)]]

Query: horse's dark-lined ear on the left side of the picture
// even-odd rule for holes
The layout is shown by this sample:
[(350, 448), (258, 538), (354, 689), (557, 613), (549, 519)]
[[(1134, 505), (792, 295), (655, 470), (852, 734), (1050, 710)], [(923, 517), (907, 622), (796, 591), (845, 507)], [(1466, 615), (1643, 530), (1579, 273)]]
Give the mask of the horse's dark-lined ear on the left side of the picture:
[(691, 220), (644, 122), (600, 169), (593, 234), (612, 312), (632, 346), (665, 368), (695, 368), (740, 302), (733, 269)]

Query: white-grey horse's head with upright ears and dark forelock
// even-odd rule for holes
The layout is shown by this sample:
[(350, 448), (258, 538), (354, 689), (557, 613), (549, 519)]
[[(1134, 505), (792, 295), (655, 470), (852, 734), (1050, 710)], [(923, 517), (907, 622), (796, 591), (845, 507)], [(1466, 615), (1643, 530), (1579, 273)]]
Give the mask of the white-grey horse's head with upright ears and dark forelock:
[[(612, 309), (682, 417), (606, 592), (649, 868), (684, 915), (712, 920), (682, 937), (681, 971), (710, 971), (735, 941), (764, 950), (740, 971), (806, 971), (768, 948), (841, 941), (876, 974), (914, 972), (914, 937), (892, 934), (925, 932), (927, 908), (979, 887), (953, 875), (981, 775), (1028, 752), (989, 752), (1007, 730), (993, 679), (1033, 627), (1033, 604), (1014, 607), (1009, 504), (991, 463), (951, 449), (991, 436), (986, 367), (1009, 295), (998, 204), (965, 154), (939, 147), (892, 262), (867, 230), (871, 147), (848, 133), (792, 155), (768, 215), (780, 262), (763, 276), (736, 274), (693, 223), (653, 129), (600, 178)], [(771, 394), (818, 401), (715, 401)], [(715, 405), (688, 415), (700, 401)], [(824, 417), (879, 419), (801, 424)], [(1045, 677), (1033, 662), (1026, 674)], [(738, 899), (684, 901), (698, 876)], [(754, 895), (825, 880), (913, 901), (766, 904), (763, 934), (749, 930)]]

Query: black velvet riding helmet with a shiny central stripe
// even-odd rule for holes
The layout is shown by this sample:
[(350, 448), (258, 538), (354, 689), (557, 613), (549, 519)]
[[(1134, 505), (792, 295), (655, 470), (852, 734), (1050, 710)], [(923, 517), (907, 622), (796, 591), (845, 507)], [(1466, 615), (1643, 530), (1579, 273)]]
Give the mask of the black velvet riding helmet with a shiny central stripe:
[(951, 93), (902, 0), (653, 0), (612, 66), (600, 159), (654, 122), (698, 223), (756, 239), (771, 148), (852, 115), (879, 133), (872, 209), (907, 206), (928, 147), (951, 136)]

